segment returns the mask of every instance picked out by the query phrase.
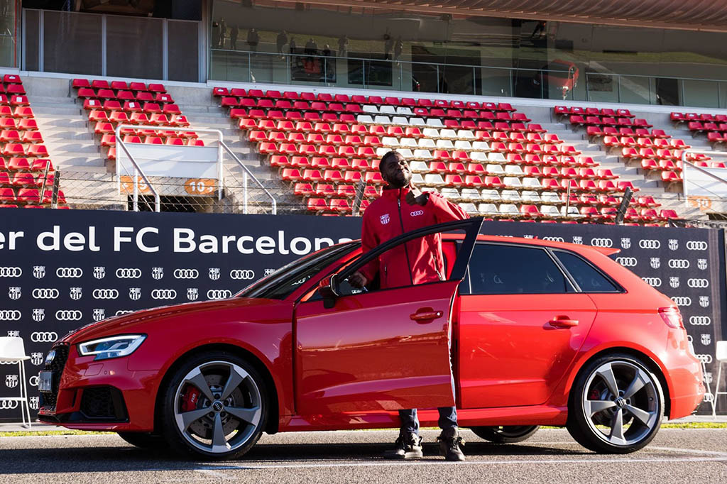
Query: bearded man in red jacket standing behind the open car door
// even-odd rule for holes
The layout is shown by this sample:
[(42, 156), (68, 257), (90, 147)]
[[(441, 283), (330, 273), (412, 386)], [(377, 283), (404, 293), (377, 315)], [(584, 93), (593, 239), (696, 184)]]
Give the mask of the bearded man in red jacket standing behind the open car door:
[[(467, 218), (465, 211), (437, 193), (421, 193), (411, 186), (411, 170), (400, 153), (390, 151), (381, 158), (381, 176), (387, 186), (364, 212), (361, 227), (361, 250), (374, 249), (391, 238), (411, 230)], [(371, 261), (350, 275), (352, 286), (364, 287), (379, 273), (382, 289), (413, 286), (444, 281), (444, 258), (441, 235), (432, 234), (403, 243), (385, 252), (379, 260)], [(459, 448), (462, 438), (457, 429), (457, 411), (454, 407), (438, 408), (438, 440), (440, 451), (447, 460), (463, 461)], [(387, 452), (390, 459), (418, 459), (422, 457), (422, 437), (419, 437), (417, 409), (400, 410), (401, 429), (395, 449)]]

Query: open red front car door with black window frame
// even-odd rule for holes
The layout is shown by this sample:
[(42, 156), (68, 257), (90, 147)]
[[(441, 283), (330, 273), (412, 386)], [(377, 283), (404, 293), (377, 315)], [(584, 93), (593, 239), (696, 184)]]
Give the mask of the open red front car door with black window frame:
[[(451, 304), (482, 219), (433, 225), (362, 254), (326, 278), (294, 313), (298, 414), (453, 406)], [(425, 235), (464, 231), (444, 281), (355, 290), (348, 276), (386, 251)], [(319, 293), (324, 294), (319, 294)]]

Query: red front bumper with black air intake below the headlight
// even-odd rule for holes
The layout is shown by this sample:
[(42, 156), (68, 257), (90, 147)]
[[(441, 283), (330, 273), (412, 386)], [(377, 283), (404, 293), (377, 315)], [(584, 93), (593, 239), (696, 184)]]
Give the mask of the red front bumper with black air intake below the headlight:
[(129, 357), (94, 361), (80, 356), (75, 346), (65, 350), (65, 361), (46, 367), (54, 372), (54, 384), (52, 392), (41, 393), (41, 422), (70, 429), (153, 431), (157, 371), (129, 371)]

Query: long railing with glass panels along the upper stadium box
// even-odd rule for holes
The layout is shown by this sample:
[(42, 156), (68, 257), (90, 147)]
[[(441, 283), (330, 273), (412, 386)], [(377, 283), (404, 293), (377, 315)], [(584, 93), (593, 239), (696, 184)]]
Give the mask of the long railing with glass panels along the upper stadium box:
[(260, 84), (727, 108), (727, 79), (585, 72), (578, 66), (574, 62), (569, 69), (560, 70), (210, 49), (209, 78)]

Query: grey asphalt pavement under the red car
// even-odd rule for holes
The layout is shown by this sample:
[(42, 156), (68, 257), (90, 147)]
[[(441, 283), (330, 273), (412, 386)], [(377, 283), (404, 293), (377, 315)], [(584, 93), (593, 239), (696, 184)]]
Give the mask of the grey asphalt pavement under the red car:
[(186, 461), (142, 451), (116, 435), (0, 437), (0, 483), (726, 483), (727, 429), (662, 429), (642, 451), (602, 455), (564, 429), (518, 444), (463, 431), (465, 462), (438, 456), (424, 430), (425, 457), (386, 461), (393, 430), (264, 435), (244, 459)]

